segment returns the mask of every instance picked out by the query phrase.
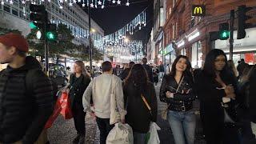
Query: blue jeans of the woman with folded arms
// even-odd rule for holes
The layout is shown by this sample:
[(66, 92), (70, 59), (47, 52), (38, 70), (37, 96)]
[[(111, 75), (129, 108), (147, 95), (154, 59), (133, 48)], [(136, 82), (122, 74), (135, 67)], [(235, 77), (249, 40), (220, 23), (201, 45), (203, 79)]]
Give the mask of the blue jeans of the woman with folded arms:
[(194, 144), (196, 126), (194, 110), (186, 112), (170, 110), (167, 119), (174, 134), (175, 144)]

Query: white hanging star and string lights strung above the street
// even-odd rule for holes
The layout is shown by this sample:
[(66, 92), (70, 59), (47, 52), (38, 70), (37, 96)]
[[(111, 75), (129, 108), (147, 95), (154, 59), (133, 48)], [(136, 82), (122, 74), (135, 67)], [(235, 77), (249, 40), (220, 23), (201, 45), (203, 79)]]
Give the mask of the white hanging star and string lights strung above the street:
[[(13, 0), (0, 0), (1, 4), (13, 5)], [(41, 5), (46, 2), (50, 3), (55, 0), (21, 0), (22, 12), (26, 16), (27, 3)], [(81, 6), (90, 6), (91, 8), (105, 8), (106, 6), (130, 6), (129, 0), (57, 0), (59, 9), (63, 9), (64, 3), (67, 6), (74, 6), (74, 4), (81, 4)], [(65, 22), (54, 21), (50, 19), (51, 23), (59, 24), (62, 23), (68, 26)], [(92, 40), (94, 46), (98, 50), (102, 50), (106, 54), (114, 57), (127, 56), (129, 54), (135, 54), (137, 58), (142, 56), (142, 41), (128, 41), (127, 35), (132, 35), (136, 31), (141, 30), (142, 27), (146, 26), (146, 10), (143, 10), (141, 14), (138, 14), (131, 22), (123, 26), (120, 30), (117, 30), (113, 34), (102, 36), (100, 34), (92, 34)], [(81, 29), (78, 26), (72, 26), (73, 29), (78, 31)], [(70, 28), (68, 26), (68, 28)], [(81, 30), (81, 34), (74, 34), (77, 38), (89, 38), (89, 30)]]

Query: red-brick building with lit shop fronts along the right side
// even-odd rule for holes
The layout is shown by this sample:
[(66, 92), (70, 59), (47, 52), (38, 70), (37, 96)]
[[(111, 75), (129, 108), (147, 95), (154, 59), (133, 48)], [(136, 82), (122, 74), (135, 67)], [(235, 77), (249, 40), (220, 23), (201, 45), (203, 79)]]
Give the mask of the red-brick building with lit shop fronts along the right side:
[[(206, 6), (205, 17), (192, 17), (192, 5)], [(164, 30), (164, 58), (166, 63), (174, 61), (174, 54), (190, 58), (192, 66), (202, 66), (206, 54), (214, 48), (222, 49), (229, 56), (229, 40), (210, 42), (209, 33), (218, 31), (219, 23), (229, 22), (230, 10), (238, 6), (256, 6), (255, 0), (169, 0), (166, 1), (166, 23)], [(256, 18), (256, 10), (249, 14)], [(253, 20), (251, 21), (253, 22)], [(256, 22), (254, 22), (256, 23)], [(234, 62), (240, 58), (256, 63), (256, 28), (246, 30), (246, 38), (236, 39), (237, 20), (234, 21)]]

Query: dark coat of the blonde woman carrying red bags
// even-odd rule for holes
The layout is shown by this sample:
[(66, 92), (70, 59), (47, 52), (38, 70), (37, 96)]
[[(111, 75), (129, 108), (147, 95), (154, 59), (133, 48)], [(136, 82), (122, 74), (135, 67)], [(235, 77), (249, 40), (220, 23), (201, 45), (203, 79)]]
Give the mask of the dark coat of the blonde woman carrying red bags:
[(90, 83), (90, 78), (81, 74), (79, 78), (75, 78), (75, 74), (70, 74), (70, 104), (71, 108), (77, 105), (83, 110), (82, 107), (82, 95), (86, 91), (87, 86)]

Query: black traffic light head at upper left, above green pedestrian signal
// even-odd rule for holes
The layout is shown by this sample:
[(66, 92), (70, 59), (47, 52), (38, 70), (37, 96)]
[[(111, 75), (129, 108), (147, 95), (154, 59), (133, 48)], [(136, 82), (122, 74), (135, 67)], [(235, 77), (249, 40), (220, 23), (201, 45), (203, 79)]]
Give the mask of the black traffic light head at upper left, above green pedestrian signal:
[(45, 6), (30, 4), (30, 26), (37, 26), (39, 29), (45, 29), (45, 24), (48, 22), (48, 13)]

